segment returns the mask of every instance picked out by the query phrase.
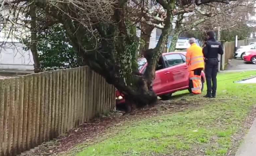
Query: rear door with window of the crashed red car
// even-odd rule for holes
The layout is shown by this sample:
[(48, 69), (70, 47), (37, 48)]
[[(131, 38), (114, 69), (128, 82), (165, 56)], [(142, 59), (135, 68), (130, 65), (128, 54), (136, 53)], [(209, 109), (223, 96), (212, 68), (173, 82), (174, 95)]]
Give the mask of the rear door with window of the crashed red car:
[(181, 55), (174, 53), (164, 56), (166, 72), (169, 72), (167, 75), (169, 90), (178, 90), (188, 86), (188, 66)]

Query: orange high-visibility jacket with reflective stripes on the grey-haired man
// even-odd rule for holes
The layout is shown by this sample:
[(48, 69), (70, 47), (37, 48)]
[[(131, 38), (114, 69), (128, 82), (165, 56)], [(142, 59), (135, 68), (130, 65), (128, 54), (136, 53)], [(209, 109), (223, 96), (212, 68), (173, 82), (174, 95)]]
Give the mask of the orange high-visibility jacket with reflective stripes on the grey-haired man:
[(196, 68), (204, 68), (203, 49), (196, 43), (191, 44), (191, 46), (187, 49), (186, 63), (189, 66), (189, 71)]

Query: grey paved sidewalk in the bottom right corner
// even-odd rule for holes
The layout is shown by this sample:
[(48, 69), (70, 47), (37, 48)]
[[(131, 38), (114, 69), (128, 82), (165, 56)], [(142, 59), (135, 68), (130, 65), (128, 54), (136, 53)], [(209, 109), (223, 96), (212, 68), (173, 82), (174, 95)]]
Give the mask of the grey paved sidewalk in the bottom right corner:
[(256, 156), (256, 119), (235, 156)]

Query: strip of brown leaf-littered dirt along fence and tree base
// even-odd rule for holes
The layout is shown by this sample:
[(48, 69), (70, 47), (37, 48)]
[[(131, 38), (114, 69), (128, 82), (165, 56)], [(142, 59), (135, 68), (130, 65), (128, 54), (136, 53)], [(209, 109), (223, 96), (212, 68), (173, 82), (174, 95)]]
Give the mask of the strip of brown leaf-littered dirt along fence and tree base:
[[(191, 101), (190, 101), (191, 102)], [(184, 111), (190, 108), (200, 106), (199, 103), (189, 103), (185, 99), (172, 101), (158, 101), (156, 106), (136, 110), (130, 114), (125, 114), (121, 111), (116, 111), (92, 120), (90, 123), (85, 123), (69, 131), (66, 135), (59, 136), (57, 139), (43, 143), (41, 146), (22, 153), (22, 156), (50, 156), (64, 154), (80, 143), (95, 142), (95, 138), (100, 137), (115, 126), (121, 126), (125, 121), (136, 121), (144, 118), (150, 118), (166, 113), (175, 113)]]

